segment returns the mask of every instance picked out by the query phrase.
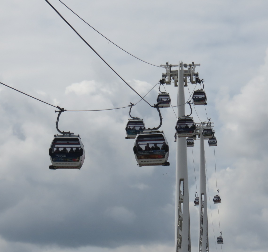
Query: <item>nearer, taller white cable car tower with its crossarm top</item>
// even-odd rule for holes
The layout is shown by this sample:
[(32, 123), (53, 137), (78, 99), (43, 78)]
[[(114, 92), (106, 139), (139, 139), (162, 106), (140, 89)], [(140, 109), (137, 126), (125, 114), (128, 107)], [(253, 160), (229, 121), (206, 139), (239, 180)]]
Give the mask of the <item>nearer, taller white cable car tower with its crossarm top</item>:
[[(163, 81), (178, 86), (177, 106), (178, 118), (185, 116), (185, 98), (184, 87), (187, 86), (189, 77), (192, 84), (196, 84), (195, 73), (196, 65), (192, 64), (169, 65), (164, 66), (166, 73), (163, 74)], [(178, 70), (172, 70), (172, 67), (178, 67)], [(184, 70), (187, 68), (187, 70)], [(176, 133), (177, 134), (177, 133)], [(189, 186), (188, 186), (188, 167), (187, 167), (187, 145), (185, 137), (177, 137), (176, 149), (176, 195), (175, 195), (175, 252), (191, 252), (191, 235), (190, 235), (190, 214), (189, 214)]]

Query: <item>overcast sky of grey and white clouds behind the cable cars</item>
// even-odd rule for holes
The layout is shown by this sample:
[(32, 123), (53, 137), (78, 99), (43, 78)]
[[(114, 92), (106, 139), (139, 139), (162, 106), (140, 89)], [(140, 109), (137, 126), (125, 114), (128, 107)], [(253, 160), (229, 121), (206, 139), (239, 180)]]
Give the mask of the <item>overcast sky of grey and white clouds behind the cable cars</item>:
[[(225, 1), (58, 0), (50, 3), (140, 95), (162, 77), (157, 66), (200, 63), (207, 94), (196, 122), (214, 122), (218, 146), (205, 144), (210, 251), (267, 251), (268, 3)], [(137, 103), (136, 95), (45, 0), (2, 0), (0, 82), (66, 110)], [(177, 89), (165, 86), (172, 105)], [(190, 92), (195, 86), (189, 85)], [(156, 103), (158, 85), (146, 96)], [(185, 89), (185, 99), (189, 91)], [(174, 108), (176, 112), (176, 108)], [(189, 108), (186, 107), (186, 110)], [(59, 129), (79, 134), (81, 170), (49, 170), (55, 108), (0, 86), (0, 251), (174, 251), (176, 115), (161, 109), (168, 167), (138, 167), (125, 140), (129, 108), (64, 112)], [(206, 115), (207, 112), (207, 115)], [(159, 125), (144, 101), (132, 108)], [(215, 159), (214, 159), (215, 151)], [(222, 204), (214, 205), (220, 190)], [(199, 142), (188, 148), (192, 251), (198, 250)], [(224, 244), (216, 245), (222, 231)]]

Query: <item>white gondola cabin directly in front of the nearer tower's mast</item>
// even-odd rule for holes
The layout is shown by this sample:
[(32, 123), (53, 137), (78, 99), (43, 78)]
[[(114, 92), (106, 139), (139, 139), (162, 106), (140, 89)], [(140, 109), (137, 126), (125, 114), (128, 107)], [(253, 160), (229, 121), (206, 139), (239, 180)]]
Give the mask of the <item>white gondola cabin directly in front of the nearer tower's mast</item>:
[(195, 137), (195, 122), (192, 117), (178, 118), (175, 129), (178, 137)]

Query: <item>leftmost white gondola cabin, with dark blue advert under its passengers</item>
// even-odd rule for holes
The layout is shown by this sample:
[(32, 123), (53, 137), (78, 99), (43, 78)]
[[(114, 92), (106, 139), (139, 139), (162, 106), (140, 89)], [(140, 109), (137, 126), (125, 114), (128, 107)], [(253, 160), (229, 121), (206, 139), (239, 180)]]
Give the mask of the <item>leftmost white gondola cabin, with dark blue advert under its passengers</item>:
[(51, 170), (81, 169), (85, 152), (81, 138), (74, 135), (54, 135), (49, 149)]

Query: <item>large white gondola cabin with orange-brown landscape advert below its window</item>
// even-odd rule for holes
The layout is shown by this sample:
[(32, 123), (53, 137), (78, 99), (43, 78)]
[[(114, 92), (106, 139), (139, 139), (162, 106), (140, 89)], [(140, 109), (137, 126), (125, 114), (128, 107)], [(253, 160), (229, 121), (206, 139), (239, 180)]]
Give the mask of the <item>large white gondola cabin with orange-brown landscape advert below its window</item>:
[(163, 131), (145, 130), (135, 139), (133, 152), (138, 166), (169, 166), (169, 146)]

